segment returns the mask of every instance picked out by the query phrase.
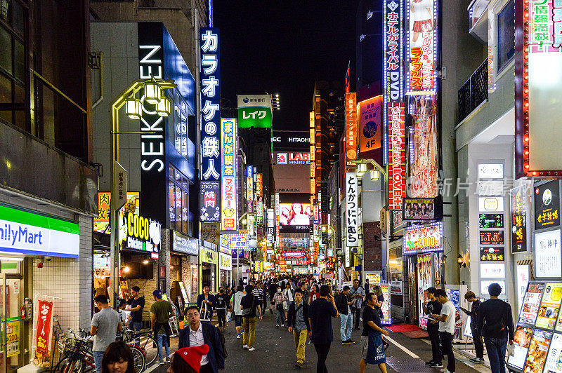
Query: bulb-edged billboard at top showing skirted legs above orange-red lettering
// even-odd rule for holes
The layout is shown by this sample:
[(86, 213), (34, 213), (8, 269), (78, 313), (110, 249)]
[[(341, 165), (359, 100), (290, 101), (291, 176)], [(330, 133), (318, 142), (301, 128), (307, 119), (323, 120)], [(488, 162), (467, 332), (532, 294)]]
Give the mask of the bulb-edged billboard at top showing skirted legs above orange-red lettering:
[(436, 1), (407, 0), (407, 93), (431, 94), (436, 90)]

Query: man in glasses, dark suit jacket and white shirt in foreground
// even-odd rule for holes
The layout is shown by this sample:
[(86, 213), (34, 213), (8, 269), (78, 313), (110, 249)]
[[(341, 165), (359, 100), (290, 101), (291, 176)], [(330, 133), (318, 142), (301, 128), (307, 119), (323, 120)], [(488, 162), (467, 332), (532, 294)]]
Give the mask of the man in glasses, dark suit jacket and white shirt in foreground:
[(185, 311), (189, 326), (180, 332), (178, 348), (201, 346), (207, 344), (209, 353), (201, 358), (200, 373), (216, 373), (224, 369), (226, 358), (218, 336), (218, 330), (211, 323), (200, 323), (200, 313), (196, 306)]

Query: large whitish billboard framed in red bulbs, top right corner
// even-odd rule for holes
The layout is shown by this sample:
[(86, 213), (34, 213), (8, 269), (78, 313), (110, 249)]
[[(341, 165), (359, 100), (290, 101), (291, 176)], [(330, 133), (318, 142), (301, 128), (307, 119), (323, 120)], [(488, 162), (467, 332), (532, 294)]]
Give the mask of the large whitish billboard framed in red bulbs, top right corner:
[(516, 1), (516, 177), (562, 175), (562, 7), (559, 0)]

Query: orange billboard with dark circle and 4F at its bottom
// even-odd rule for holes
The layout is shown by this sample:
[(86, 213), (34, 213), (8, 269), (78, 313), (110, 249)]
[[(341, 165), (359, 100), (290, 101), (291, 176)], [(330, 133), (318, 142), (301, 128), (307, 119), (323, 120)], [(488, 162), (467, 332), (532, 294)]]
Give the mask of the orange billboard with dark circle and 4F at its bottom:
[[(382, 95), (359, 102), (359, 153), (381, 149)], [(380, 158), (380, 157), (379, 157)], [(379, 159), (379, 162), (381, 160)]]

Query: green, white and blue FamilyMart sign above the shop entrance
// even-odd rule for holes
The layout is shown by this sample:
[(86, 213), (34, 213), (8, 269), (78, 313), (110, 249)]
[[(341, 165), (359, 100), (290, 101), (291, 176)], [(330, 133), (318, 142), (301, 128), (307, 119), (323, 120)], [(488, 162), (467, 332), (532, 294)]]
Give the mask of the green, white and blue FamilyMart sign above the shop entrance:
[(0, 251), (77, 258), (79, 245), (77, 223), (0, 205)]

